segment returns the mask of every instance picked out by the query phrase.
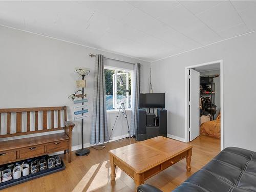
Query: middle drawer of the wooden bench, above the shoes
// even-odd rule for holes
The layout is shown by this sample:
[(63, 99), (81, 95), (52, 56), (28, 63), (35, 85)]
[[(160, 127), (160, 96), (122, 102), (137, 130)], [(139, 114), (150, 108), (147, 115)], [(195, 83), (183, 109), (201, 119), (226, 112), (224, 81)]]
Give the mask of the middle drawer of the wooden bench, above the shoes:
[(31, 146), (28, 148), (24, 148), (24, 150), (19, 151), (19, 158), (26, 159), (31, 157), (40, 156), (45, 153), (45, 146)]

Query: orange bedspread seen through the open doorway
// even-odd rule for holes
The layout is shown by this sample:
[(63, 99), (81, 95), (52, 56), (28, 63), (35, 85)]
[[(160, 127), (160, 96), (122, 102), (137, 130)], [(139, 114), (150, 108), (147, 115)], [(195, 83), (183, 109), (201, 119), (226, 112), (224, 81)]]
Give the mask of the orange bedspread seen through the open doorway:
[(216, 120), (207, 121), (200, 125), (200, 135), (208, 135), (211, 137), (221, 138), (221, 115)]

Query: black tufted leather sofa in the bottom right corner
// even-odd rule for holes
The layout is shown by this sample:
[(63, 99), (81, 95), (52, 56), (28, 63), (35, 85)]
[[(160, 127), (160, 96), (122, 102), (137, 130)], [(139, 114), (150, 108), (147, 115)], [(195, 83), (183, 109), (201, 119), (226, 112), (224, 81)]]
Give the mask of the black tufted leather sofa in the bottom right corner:
[[(147, 184), (140, 185), (137, 191), (161, 192)], [(173, 191), (256, 191), (256, 152), (227, 147)]]

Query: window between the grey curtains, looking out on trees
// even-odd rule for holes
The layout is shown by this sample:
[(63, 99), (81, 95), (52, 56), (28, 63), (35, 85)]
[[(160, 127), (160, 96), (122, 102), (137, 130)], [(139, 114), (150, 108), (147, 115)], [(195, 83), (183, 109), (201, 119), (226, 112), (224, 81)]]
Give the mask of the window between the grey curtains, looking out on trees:
[(132, 71), (105, 67), (106, 110), (132, 108)]

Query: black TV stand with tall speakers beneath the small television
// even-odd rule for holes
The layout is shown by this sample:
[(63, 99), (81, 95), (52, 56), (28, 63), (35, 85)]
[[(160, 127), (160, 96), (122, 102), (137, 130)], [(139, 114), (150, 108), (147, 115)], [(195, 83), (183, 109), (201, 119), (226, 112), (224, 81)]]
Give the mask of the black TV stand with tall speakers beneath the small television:
[[(148, 108), (150, 109), (150, 108)], [(149, 110), (150, 112), (150, 110)], [(154, 110), (153, 110), (154, 112)], [(153, 115), (153, 114), (152, 114)], [(167, 137), (167, 110), (165, 109), (157, 109), (157, 119), (158, 126), (155, 124), (152, 126), (148, 126), (147, 122), (151, 122), (147, 120), (146, 108), (140, 108), (138, 110), (138, 124), (136, 130), (136, 140), (143, 141), (146, 139), (150, 139), (153, 137), (157, 137), (159, 135)], [(152, 118), (152, 117), (150, 117)]]

